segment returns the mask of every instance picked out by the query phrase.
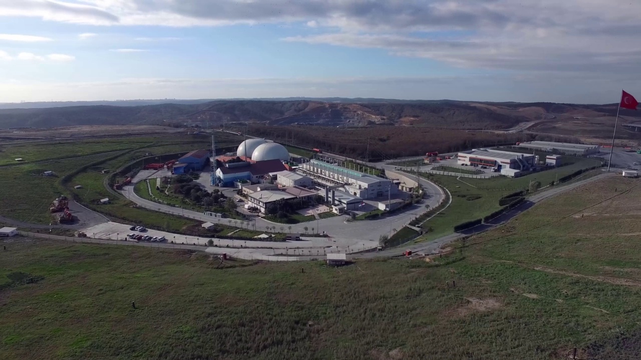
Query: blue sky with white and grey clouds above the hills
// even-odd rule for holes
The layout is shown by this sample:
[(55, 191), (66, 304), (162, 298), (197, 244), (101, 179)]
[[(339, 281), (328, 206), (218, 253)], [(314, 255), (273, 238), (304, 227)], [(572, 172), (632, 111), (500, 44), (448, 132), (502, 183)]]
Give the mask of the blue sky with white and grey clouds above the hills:
[(0, 102), (641, 99), (641, 1), (0, 0)]

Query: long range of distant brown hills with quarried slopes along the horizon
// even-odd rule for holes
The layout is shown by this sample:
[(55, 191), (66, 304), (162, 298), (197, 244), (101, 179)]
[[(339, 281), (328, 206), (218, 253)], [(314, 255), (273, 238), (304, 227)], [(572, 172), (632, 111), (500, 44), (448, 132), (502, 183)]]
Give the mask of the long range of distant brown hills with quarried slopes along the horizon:
[[(206, 124), (217, 126), (229, 122), (260, 122), (272, 126), (413, 126), (491, 130), (510, 129), (523, 122), (538, 120), (607, 117), (612, 116), (617, 109), (616, 104), (346, 100), (185, 100), (144, 105), (133, 105), (139, 101), (131, 101), (127, 102), (127, 106), (92, 104), (11, 108), (0, 109), (0, 128), (79, 125), (185, 127)], [(635, 111), (622, 111), (622, 115), (636, 114)]]

